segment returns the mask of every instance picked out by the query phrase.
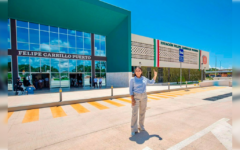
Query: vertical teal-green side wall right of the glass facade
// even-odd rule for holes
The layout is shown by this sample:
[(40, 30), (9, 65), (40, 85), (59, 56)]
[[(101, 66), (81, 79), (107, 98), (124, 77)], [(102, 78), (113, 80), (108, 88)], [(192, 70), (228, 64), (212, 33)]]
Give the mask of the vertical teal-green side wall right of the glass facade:
[(131, 72), (131, 16), (106, 37), (107, 72)]

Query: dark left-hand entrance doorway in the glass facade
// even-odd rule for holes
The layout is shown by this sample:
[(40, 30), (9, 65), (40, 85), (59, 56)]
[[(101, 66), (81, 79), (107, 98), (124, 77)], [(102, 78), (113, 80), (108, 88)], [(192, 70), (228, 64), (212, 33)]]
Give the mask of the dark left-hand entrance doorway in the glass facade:
[(49, 89), (50, 88), (50, 74), (49, 73), (36, 73), (32, 74), (32, 83), (36, 89)]

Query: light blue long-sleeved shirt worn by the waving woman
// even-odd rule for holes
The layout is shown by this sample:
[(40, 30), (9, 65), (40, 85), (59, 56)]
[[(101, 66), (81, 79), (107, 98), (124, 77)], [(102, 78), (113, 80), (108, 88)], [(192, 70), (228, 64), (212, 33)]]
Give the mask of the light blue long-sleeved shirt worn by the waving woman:
[(140, 78), (135, 76), (130, 80), (130, 85), (129, 85), (130, 95), (133, 95), (134, 92), (145, 93), (147, 84), (154, 84), (154, 83), (155, 83), (154, 79), (149, 80), (144, 76), (141, 76)]

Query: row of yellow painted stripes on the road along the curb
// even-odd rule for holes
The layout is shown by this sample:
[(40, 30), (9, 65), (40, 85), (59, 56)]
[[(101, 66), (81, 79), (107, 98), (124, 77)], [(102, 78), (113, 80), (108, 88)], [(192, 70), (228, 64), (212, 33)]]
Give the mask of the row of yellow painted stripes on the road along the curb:
[[(162, 92), (162, 93), (155, 93), (155, 94), (148, 94), (148, 102), (151, 100), (161, 100), (171, 98), (171, 97), (178, 97), (182, 95), (188, 95), (192, 93), (198, 93), (198, 92), (205, 92), (209, 90), (216, 90), (216, 89), (222, 89), (225, 87), (205, 87), (205, 88), (195, 88), (195, 89), (188, 89), (188, 90), (180, 90), (180, 91), (171, 91), (171, 92)], [(116, 102), (116, 101), (121, 101), (122, 103)], [(122, 107), (126, 105), (131, 105), (131, 97), (122, 97), (122, 98), (117, 98), (115, 101), (112, 100), (102, 100), (102, 102), (111, 104), (113, 106), (117, 107)], [(104, 110), (104, 109), (109, 109), (109, 107), (105, 106), (104, 103), (99, 103), (99, 102), (86, 102), (87, 104), (94, 106), (95, 108), (99, 110)], [(126, 103), (126, 105), (125, 105)], [(110, 105), (109, 105), (110, 106)], [(78, 113), (87, 113), (91, 112), (87, 108), (84, 107), (84, 105), (81, 104), (71, 104), (71, 107), (77, 111)], [(64, 117), (67, 116), (65, 111), (61, 106), (56, 106), (56, 107), (50, 107), (51, 113), (53, 118), (58, 118), (58, 117)], [(24, 115), (22, 123), (28, 123), (28, 122), (34, 122), (39, 120), (39, 112), (41, 109), (31, 109), (31, 110), (26, 110), (26, 113)], [(8, 120), (11, 118), (14, 112), (8, 112), (5, 122), (8, 122)]]

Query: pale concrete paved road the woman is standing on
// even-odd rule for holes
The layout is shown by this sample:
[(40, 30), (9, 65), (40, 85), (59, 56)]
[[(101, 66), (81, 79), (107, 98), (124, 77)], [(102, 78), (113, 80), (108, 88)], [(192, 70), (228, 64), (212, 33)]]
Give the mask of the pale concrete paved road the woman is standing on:
[(148, 95), (130, 136), (130, 97), (8, 113), (9, 149), (230, 149), (230, 87)]

